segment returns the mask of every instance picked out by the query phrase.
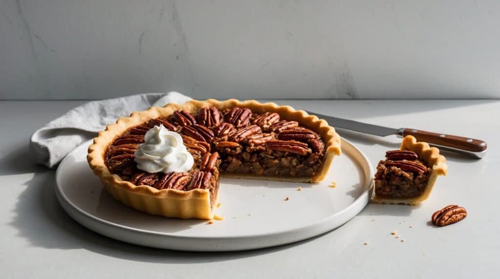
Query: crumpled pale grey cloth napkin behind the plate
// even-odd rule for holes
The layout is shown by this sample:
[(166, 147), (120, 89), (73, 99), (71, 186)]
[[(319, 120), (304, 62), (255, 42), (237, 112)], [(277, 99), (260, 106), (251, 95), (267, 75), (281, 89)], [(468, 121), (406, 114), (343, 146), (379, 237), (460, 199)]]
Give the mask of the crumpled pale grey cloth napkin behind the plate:
[(78, 145), (133, 111), (184, 103), (190, 97), (178, 92), (149, 93), (92, 101), (75, 107), (31, 135), (29, 148), (35, 163), (53, 168)]

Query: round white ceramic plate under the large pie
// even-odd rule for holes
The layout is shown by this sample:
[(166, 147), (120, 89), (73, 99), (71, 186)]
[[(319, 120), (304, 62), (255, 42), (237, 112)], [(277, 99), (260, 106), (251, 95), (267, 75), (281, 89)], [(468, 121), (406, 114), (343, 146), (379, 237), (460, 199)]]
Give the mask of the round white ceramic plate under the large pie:
[[(215, 214), (222, 221), (181, 220), (148, 215), (108, 195), (87, 165), (86, 142), (62, 160), (56, 196), (78, 223), (120, 241), (186, 251), (234, 251), (292, 243), (333, 230), (368, 203), (373, 170), (366, 156), (342, 139), (319, 184), (221, 178)], [(336, 187), (328, 187), (333, 180)], [(301, 187), (301, 191), (298, 191)], [(288, 197), (288, 201), (285, 201)]]

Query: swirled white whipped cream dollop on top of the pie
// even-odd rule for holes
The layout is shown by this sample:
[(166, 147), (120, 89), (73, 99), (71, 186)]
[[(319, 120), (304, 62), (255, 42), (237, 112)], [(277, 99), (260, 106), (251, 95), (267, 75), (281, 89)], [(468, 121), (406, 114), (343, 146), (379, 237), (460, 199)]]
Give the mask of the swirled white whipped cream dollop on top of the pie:
[(182, 137), (163, 125), (154, 126), (144, 136), (144, 143), (134, 153), (137, 168), (148, 173), (187, 172), (194, 164)]

